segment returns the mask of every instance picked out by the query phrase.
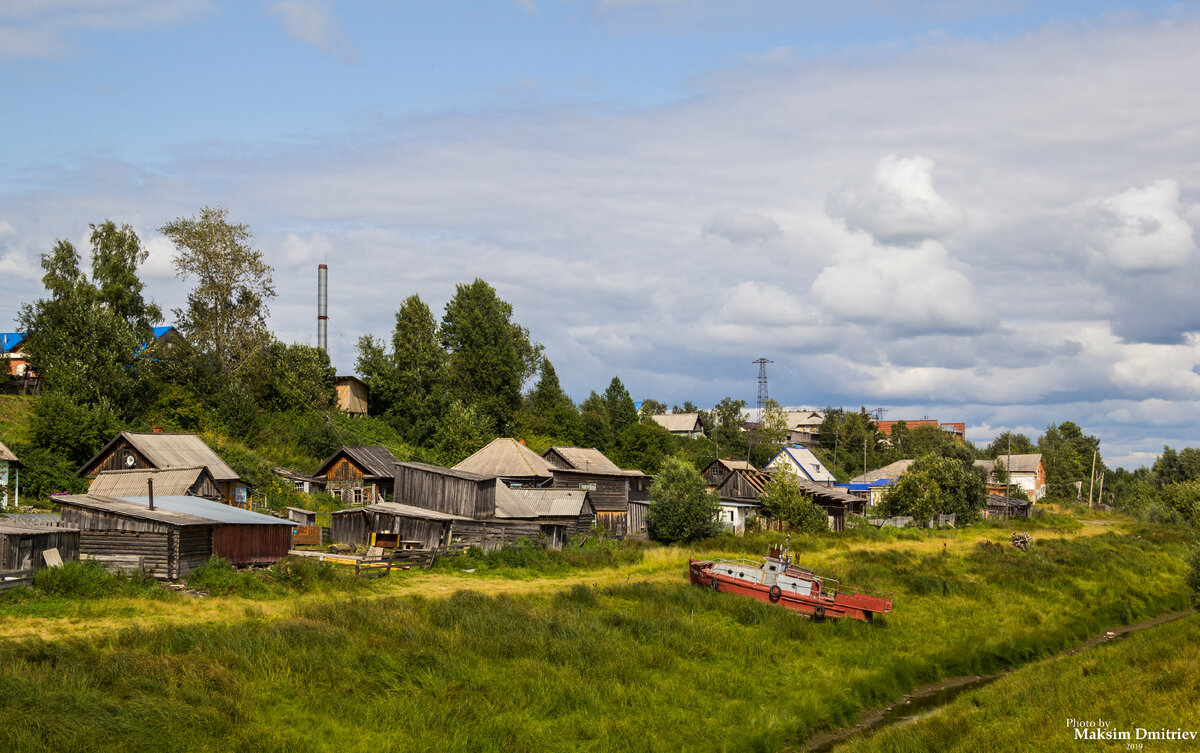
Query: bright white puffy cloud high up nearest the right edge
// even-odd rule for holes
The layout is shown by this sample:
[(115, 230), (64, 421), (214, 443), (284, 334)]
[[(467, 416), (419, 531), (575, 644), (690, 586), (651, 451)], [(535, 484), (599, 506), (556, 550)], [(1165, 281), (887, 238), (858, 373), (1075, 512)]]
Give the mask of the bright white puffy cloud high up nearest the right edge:
[(1178, 269), (1192, 261), (1196, 249), (1192, 225), (1181, 216), (1180, 185), (1174, 180), (1098, 201), (1092, 218), (1099, 225), (1099, 252), (1123, 272)]

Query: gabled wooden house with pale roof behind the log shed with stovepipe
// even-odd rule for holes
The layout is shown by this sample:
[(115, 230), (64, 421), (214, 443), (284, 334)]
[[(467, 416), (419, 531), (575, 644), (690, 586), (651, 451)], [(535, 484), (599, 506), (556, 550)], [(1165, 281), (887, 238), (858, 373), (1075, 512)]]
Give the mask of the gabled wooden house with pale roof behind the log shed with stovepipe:
[[(196, 434), (121, 432), (83, 464), (79, 475), (95, 478), (101, 471), (138, 469), (192, 469), (203, 465), (217, 484), (226, 505), (250, 505), (250, 488), (224, 460)], [(142, 496), (143, 494), (138, 494)]]

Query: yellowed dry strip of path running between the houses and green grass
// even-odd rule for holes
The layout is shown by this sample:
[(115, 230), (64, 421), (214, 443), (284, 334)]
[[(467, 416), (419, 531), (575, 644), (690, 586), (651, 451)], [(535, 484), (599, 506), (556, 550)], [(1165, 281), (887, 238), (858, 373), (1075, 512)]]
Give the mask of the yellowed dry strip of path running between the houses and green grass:
[[(1110, 532), (1105, 525), (1087, 525), (1074, 531), (1034, 530), (1034, 541), (1043, 538), (1075, 538)], [(1010, 532), (1002, 530), (982, 531), (979, 536), (962, 537), (958, 532), (931, 536), (913, 541), (853, 541), (834, 546), (822, 552), (802, 554), (817, 566), (854, 550), (889, 549), (907, 553), (934, 553), (942, 550), (962, 554), (980, 541), (1007, 544)], [(420, 595), (444, 598), (456, 591), (473, 590), (486, 594), (552, 594), (575, 585), (596, 588), (624, 583), (683, 583), (686, 580), (688, 556), (698, 556), (679, 547), (649, 549), (640, 565), (617, 568), (590, 570), (566, 576), (510, 578), (491, 573), (421, 572), (391, 578), (379, 583), (370, 592), (359, 595), (313, 594), (277, 600), (246, 600), (233, 596), (191, 600), (103, 600), (79, 602), (70, 614), (59, 616), (8, 616), (0, 615), (0, 639), (41, 638), (55, 639), (94, 634), (112, 634), (122, 628), (150, 629), (170, 625), (228, 624), (246, 616), (286, 618), (306, 604), (331, 598), (384, 598), (390, 596)], [(704, 556), (712, 556), (706, 553)]]

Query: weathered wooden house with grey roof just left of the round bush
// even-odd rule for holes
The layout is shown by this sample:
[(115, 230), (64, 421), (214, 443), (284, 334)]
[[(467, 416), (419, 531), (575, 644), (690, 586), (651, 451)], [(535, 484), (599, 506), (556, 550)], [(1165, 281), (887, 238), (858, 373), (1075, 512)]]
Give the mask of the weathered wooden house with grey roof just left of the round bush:
[[(630, 530), (630, 487), (635, 480), (647, 478), (644, 474), (622, 470), (594, 447), (551, 447), (542, 457), (551, 466), (556, 488), (588, 493), (598, 525), (616, 536), (636, 532)], [(644, 516), (638, 517), (634, 524), (644, 528)]]

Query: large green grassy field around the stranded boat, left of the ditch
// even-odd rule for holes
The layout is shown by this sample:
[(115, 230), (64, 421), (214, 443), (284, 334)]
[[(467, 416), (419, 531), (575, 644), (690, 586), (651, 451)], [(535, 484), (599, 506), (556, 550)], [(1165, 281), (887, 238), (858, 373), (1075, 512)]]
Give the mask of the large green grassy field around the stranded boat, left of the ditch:
[(895, 590), (872, 625), (692, 588), (696, 553), (659, 547), (481, 558), (346, 592), (29, 596), (0, 604), (0, 748), (779, 749), (914, 686), (1186, 606), (1178, 534), (1056, 525), (1027, 554), (1003, 526), (796, 542), (818, 572)]

